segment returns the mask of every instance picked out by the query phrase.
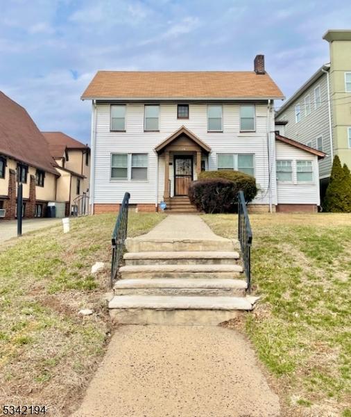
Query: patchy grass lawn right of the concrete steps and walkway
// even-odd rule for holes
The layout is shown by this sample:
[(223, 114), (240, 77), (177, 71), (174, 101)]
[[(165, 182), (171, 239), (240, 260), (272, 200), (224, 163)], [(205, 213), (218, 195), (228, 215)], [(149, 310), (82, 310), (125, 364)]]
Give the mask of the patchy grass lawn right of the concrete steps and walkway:
[[(203, 215), (237, 236), (237, 216)], [(245, 329), (284, 416), (351, 416), (351, 215), (250, 215), (253, 293)], [(233, 324), (234, 325), (234, 324)]]

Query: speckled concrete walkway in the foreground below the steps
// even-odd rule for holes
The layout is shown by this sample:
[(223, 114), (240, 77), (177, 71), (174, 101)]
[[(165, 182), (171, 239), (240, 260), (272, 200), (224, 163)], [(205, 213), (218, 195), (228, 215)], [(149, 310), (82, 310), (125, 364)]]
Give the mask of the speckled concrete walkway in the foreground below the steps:
[(234, 330), (129, 325), (112, 337), (73, 416), (273, 417), (280, 406)]

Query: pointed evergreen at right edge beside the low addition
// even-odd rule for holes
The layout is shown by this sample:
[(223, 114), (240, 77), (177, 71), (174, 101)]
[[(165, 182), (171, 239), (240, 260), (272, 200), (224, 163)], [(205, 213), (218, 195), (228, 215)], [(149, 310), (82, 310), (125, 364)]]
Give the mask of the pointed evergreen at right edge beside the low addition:
[(339, 156), (334, 157), (329, 185), (323, 203), (324, 211), (349, 213), (351, 211), (351, 174), (348, 167), (342, 167)]

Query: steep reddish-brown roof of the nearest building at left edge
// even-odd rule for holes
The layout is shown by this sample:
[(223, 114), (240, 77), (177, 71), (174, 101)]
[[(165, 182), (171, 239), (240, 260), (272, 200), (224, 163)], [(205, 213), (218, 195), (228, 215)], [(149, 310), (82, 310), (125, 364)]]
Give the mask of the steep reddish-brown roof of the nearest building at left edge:
[(46, 140), (31, 116), (1, 91), (0, 154), (58, 175)]

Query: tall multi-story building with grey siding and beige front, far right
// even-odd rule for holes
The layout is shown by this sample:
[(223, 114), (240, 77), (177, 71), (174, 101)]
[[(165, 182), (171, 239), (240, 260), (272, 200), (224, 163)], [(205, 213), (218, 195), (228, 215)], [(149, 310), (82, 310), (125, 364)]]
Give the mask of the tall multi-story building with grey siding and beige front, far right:
[(320, 190), (325, 194), (334, 155), (351, 168), (351, 31), (327, 31), (330, 63), (320, 67), (277, 111), (280, 132), (323, 151)]

